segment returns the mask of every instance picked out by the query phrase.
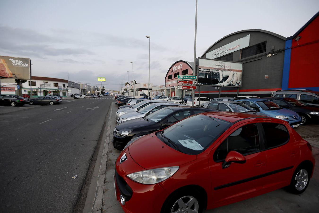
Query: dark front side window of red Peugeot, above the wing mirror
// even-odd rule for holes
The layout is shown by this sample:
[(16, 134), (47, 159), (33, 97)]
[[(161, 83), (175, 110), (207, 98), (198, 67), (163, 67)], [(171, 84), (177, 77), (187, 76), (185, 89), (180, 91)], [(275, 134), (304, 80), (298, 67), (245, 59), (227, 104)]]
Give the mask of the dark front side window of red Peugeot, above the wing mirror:
[(225, 160), (230, 151), (242, 155), (249, 155), (260, 151), (259, 133), (256, 124), (247, 124), (240, 127), (223, 141), (214, 153), (214, 161)]

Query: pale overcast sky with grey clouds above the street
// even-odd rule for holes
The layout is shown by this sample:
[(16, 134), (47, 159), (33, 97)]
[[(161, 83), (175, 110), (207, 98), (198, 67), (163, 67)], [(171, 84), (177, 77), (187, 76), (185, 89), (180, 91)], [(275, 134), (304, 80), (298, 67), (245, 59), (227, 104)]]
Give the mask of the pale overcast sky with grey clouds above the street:
[[(32, 75), (119, 89), (121, 80), (164, 85), (177, 60), (193, 61), (195, 0), (2, 0), (0, 55), (32, 59)], [(288, 37), (319, 10), (318, 0), (198, 0), (197, 55), (244, 29)], [(112, 85), (113, 84), (113, 85)]]

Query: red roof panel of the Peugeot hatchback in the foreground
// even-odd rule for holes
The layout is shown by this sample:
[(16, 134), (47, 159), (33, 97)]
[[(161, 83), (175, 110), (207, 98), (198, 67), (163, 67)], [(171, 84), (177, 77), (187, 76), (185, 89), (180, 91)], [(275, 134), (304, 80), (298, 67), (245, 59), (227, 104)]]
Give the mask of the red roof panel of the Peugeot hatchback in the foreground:
[[(245, 118), (265, 118), (264, 116), (248, 114), (248, 113), (241, 113), (241, 112), (205, 112), (204, 115), (219, 118), (221, 120), (226, 120), (232, 123), (235, 123), (241, 119)], [(268, 118), (268, 117), (267, 117)]]

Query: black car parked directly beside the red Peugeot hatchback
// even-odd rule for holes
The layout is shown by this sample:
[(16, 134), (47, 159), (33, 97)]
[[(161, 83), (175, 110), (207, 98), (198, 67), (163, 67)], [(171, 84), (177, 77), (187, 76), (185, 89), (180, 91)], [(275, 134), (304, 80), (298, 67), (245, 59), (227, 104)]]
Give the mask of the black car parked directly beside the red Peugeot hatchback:
[(211, 112), (202, 107), (168, 106), (142, 118), (128, 120), (118, 124), (113, 132), (113, 146), (122, 150), (133, 138), (161, 130), (191, 115)]

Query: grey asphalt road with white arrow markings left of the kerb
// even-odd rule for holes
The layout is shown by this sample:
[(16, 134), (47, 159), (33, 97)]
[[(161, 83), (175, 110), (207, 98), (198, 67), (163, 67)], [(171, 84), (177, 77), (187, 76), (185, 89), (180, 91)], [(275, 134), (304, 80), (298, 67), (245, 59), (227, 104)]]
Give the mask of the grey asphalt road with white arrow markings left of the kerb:
[(72, 212), (113, 100), (0, 107), (0, 212)]

